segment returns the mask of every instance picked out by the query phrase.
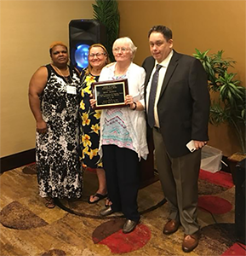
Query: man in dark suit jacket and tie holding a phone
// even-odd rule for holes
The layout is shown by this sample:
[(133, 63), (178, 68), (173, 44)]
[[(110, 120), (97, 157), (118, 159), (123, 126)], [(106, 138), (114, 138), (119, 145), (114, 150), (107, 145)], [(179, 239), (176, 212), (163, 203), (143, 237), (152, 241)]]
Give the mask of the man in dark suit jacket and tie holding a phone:
[(142, 65), (146, 69), (146, 113), (170, 209), (163, 233), (172, 234), (181, 224), (185, 232), (182, 249), (188, 253), (199, 239), (197, 180), (201, 148), (209, 140), (208, 80), (200, 61), (172, 49), (168, 27), (153, 26), (148, 38), (152, 56)]

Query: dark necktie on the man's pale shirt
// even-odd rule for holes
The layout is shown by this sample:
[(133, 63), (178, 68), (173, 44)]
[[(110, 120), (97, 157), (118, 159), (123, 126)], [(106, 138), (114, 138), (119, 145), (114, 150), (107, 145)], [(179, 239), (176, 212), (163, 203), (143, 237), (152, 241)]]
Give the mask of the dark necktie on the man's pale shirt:
[(152, 86), (151, 86), (150, 95), (149, 95), (147, 116), (148, 116), (148, 124), (150, 125), (151, 128), (154, 127), (154, 125), (155, 125), (154, 105), (155, 105), (155, 100), (156, 100), (156, 95), (157, 95), (157, 84), (158, 84), (158, 78), (159, 78), (159, 70), (161, 67), (163, 67), (163, 66), (157, 64), (156, 71), (152, 77)]

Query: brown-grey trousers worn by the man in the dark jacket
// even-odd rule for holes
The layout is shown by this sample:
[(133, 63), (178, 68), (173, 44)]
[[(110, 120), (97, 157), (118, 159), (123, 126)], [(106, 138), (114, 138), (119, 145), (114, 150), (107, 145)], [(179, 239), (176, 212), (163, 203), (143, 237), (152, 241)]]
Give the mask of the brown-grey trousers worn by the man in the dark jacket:
[(200, 170), (201, 150), (172, 158), (167, 153), (162, 134), (153, 129), (157, 171), (163, 193), (169, 203), (169, 218), (180, 221), (185, 234), (199, 230), (197, 224), (197, 180)]

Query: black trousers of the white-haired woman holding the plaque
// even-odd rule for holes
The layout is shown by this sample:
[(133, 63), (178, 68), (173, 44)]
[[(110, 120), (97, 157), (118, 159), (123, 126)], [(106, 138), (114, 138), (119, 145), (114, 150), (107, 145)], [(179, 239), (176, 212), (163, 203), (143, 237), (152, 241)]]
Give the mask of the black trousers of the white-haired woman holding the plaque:
[(112, 209), (122, 211), (128, 219), (138, 221), (137, 196), (140, 187), (140, 162), (138, 155), (129, 148), (104, 145), (103, 166), (106, 186)]

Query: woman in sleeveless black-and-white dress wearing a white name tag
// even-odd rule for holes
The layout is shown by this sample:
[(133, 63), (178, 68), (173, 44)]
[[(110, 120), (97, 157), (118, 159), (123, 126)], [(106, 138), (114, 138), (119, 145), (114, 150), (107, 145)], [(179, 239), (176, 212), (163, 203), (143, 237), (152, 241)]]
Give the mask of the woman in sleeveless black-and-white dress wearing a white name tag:
[(53, 208), (54, 198), (79, 198), (83, 171), (79, 161), (78, 106), (81, 83), (68, 66), (67, 47), (54, 42), (52, 63), (39, 67), (29, 85), (30, 108), (36, 119), (39, 195)]

